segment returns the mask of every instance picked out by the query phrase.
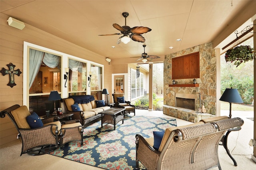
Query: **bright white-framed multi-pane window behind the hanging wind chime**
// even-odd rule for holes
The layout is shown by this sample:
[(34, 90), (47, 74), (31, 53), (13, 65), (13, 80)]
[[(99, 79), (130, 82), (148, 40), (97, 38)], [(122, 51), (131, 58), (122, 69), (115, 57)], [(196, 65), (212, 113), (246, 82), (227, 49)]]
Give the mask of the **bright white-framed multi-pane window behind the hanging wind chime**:
[(144, 74), (142, 72), (136, 78), (136, 70), (131, 68), (131, 99), (136, 99), (144, 95), (143, 78)]

